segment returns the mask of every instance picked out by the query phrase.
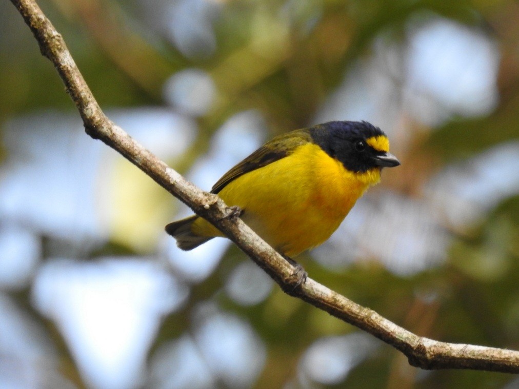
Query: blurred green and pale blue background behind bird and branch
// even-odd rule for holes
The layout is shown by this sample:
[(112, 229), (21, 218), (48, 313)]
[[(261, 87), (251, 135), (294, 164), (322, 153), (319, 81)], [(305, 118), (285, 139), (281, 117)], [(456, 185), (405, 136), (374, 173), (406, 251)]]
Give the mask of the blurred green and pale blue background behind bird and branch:
[[(429, 338), (519, 349), (519, 4), (42, 0), (107, 115), (203, 189), (268, 138), (382, 128), (402, 161), (310, 277)], [(286, 296), (84, 133), (0, 2), (0, 387), (506, 388), (422, 371)]]

